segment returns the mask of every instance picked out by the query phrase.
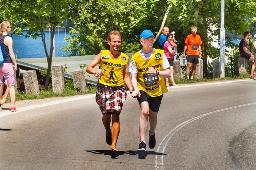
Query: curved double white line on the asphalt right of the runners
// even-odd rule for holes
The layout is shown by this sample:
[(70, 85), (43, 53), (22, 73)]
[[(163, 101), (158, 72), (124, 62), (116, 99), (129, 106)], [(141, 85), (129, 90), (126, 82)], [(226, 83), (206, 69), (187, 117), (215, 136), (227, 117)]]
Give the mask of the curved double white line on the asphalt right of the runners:
[[(200, 115), (200, 116), (197, 116), (197, 117), (194, 117), (192, 119), (189, 119), (181, 124), (179, 124), (178, 126), (176, 126), (175, 128), (173, 128), (163, 139), (162, 141), (160, 142), (159, 146), (157, 147), (157, 150), (156, 152), (159, 152), (159, 153), (164, 153), (164, 150), (165, 150), (165, 147), (166, 145), (168, 144), (169, 140), (172, 138), (172, 136), (178, 132), (181, 128), (183, 128), (184, 126), (186, 126), (187, 124), (197, 120), (197, 119), (200, 119), (202, 117), (205, 117), (205, 116), (208, 116), (208, 115), (211, 115), (211, 114), (214, 114), (214, 113), (218, 113), (218, 112), (221, 112), (221, 111), (225, 111), (225, 110), (230, 110), (230, 109), (235, 109), (235, 108), (239, 108), (239, 107), (244, 107), (244, 106), (248, 106), (248, 105), (252, 105), (252, 104), (256, 104), (256, 102), (254, 103), (247, 103), (247, 104), (242, 104), (242, 105), (238, 105), (238, 106), (233, 106), (233, 107), (229, 107), (229, 108), (225, 108), (225, 109), (221, 109), (221, 110), (216, 110), (216, 111), (212, 111), (212, 112), (209, 112), (209, 113), (205, 113), (203, 115)], [(158, 164), (158, 162), (160, 161), (160, 164)], [(158, 160), (158, 155), (156, 154), (156, 162), (155, 162), (155, 166), (156, 166), (156, 169), (161, 166), (162, 169), (164, 169), (164, 155), (160, 155), (160, 160)]]

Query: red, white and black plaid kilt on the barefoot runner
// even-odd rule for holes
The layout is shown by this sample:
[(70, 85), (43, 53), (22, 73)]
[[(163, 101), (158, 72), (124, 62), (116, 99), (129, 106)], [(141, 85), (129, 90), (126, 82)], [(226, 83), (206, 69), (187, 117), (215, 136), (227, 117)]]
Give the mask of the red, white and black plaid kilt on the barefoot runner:
[(126, 95), (124, 86), (115, 87), (98, 84), (95, 99), (102, 114), (120, 114)]

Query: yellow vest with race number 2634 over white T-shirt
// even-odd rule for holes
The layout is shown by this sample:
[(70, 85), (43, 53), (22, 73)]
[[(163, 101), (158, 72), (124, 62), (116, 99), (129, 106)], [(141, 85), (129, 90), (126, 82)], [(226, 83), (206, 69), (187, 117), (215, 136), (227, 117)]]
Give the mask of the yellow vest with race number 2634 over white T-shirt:
[(140, 52), (132, 55), (132, 59), (138, 67), (137, 84), (139, 90), (145, 91), (151, 97), (161, 96), (168, 89), (165, 87), (164, 77), (156, 74), (150, 74), (148, 67), (153, 67), (156, 70), (163, 71), (163, 56), (164, 50), (155, 49), (153, 56), (144, 60), (140, 56)]

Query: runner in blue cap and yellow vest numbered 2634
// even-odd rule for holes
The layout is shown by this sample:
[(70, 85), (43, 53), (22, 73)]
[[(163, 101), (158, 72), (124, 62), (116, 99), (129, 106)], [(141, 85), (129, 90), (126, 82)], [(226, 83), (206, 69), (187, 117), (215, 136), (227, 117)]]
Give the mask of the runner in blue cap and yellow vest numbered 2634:
[(149, 141), (150, 149), (156, 145), (157, 113), (163, 98), (163, 93), (168, 90), (165, 87), (164, 78), (170, 78), (170, 65), (164, 54), (164, 50), (153, 48), (154, 34), (150, 30), (144, 30), (140, 34), (142, 49), (132, 55), (129, 68), (131, 72), (134, 92), (139, 93), (140, 104), (140, 144), (138, 151), (146, 152), (146, 131), (148, 117), (150, 122)]

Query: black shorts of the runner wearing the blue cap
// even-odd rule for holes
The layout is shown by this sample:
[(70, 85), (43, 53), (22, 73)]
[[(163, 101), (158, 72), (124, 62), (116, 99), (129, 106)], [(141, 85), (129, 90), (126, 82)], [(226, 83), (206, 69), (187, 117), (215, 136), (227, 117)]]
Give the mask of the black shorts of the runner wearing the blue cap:
[(161, 101), (163, 99), (163, 94), (161, 96), (151, 97), (145, 91), (140, 90), (141, 96), (137, 98), (139, 104), (142, 102), (148, 102), (149, 109), (153, 112), (158, 112), (160, 108)]

